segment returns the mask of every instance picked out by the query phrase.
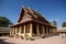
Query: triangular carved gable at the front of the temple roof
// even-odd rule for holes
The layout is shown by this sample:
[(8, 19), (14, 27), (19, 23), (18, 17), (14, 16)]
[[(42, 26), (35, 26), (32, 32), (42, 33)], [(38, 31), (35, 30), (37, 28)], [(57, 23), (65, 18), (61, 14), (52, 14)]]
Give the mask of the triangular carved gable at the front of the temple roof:
[(25, 19), (31, 19), (31, 15), (28, 13), (26, 8), (22, 7), (22, 11), (18, 22), (20, 23), (22, 22), (22, 20), (25, 20)]

